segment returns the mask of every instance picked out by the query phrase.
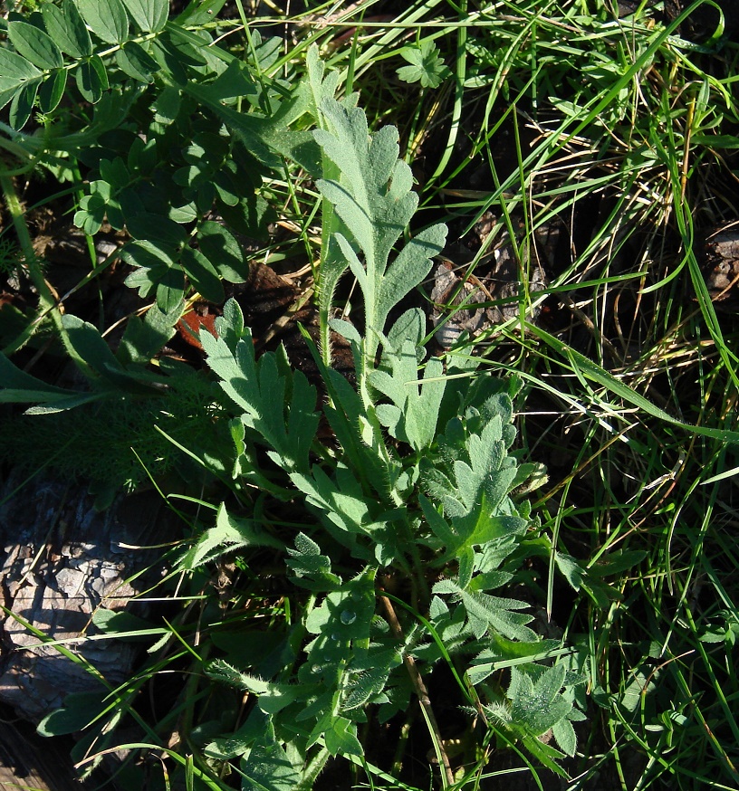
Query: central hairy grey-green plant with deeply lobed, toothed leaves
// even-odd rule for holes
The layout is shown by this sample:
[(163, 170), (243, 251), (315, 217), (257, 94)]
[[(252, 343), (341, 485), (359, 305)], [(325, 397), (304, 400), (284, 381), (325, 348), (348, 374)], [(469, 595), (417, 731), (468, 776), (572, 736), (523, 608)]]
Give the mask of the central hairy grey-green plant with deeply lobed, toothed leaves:
[[(539, 737), (552, 729), (574, 754), (571, 720), (583, 716), (578, 690), (587, 676), (575, 653), (527, 625), (525, 601), (492, 595), (518, 579), (524, 558), (550, 551), (528, 504), (513, 499), (534, 472), (511, 453), (519, 385), (475, 370), (469, 357), (450, 357), (446, 367), (425, 360), (417, 309), (386, 331), (392, 309), (429, 272), (445, 229), (417, 233), (390, 261), (416, 205), (397, 132), (370, 136), (362, 110), (335, 100), (323, 100), (320, 111), (325, 129), (315, 139), (337, 177), (319, 187), (342, 224), (335, 241), (360, 284), (364, 332), (329, 323), (350, 340), (358, 387), (321, 363), (329, 394), (322, 413), (337, 444), (317, 446), (315, 389), (280, 352), (254, 358), (235, 302), (216, 320), (217, 338), (201, 333), (207, 364), (238, 410), (235, 480), (282, 500), (304, 498), (318, 519), (282, 539), (293, 584), (309, 594), (297, 597), (300, 621), (281, 666), (267, 678), (222, 660), (208, 667), (254, 694), (258, 709), (237, 738), (216, 740), (206, 754), (242, 757), (246, 788), (312, 787), (329, 756), (362, 758), (360, 723), (389, 720), (415, 693), (443, 786), (451, 786), (424, 682), (435, 662), (448, 662), (462, 700), (488, 723), (481, 745), (495, 732), (521, 739), (561, 772), (563, 753)], [(317, 350), (315, 357), (321, 362)], [(258, 462), (264, 452), (267, 467)], [(409, 586), (407, 599), (384, 592), (382, 579), (393, 575)], [(493, 678), (504, 669), (507, 685)], [(376, 713), (368, 713), (371, 704)]]

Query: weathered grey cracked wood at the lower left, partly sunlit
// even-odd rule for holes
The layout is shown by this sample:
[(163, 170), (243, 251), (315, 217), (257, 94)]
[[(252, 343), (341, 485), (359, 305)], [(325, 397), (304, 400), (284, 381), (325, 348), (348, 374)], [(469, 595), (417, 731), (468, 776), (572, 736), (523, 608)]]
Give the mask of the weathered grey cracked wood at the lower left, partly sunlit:
[[(109, 510), (98, 512), (86, 488), (75, 482), (36, 478), (19, 489), (21, 482), (11, 475), (0, 487), (0, 590), (7, 614), (0, 624), (0, 703), (38, 723), (69, 692), (101, 691), (101, 677), (119, 684), (130, 676), (140, 649), (136, 643), (86, 640), (97, 631), (91, 616), (101, 607), (149, 615), (135, 596), (160, 578), (160, 550), (134, 547), (159, 544), (180, 528), (153, 491), (120, 495)], [(26, 622), (64, 641), (82, 661), (44, 645)], [(12, 731), (5, 744), (7, 767), (43, 775), (35, 753), (25, 755), (23, 740), (11, 737)], [(14, 748), (21, 752), (14, 754)], [(61, 777), (63, 766), (57, 770)]]

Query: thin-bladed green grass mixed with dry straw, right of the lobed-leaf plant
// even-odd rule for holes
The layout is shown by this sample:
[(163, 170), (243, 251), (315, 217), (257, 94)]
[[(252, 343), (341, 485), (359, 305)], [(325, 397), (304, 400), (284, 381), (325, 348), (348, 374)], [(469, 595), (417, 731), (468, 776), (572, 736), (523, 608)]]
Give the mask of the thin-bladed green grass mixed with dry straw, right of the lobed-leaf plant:
[[(590, 649), (589, 720), (567, 787), (605, 787), (603, 778), (623, 791), (737, 787), (739, 516), (729, 473), (739, 464), (739, 327), (716, 314), (699, 253), (739, 199), (736, 44), (685, 23), (678, 31), (644, 7), (616, 20), (592, 0), (428, 0), (392, 21), (373, 20), (384, 13), (374, 3), (339, 5), (293, 15), (294, 42), (270, 76), (295, 79), (308, 46), (322, 44), (370, 126), (398, 127), (419, 181), (420, 223), (442, 219), (461, 236), (490, 210), (498, 224), (473, 264), (506, 235), (517, 248), (518, 315), (460, 347), (523, 377), (521, 446), (550, 476), (534, 509), (554, 548), (588, 569), (573, 588), (553, 553), (530, 568), (538, 604), (570, 643)], [(396, 76), (406, 63), (398, 49), (420, 41), (435, 42), (452, 71), (437, 90)], [(314, 264), (314, 186), (290, 167), (267, 191), (286, 236), (260, 256)], [(551, 260), (533, 243), (547, 229), (561, 237)], [(533, 291), (540, 261), (547, 285)], [(355, 296), (346, 300), (359, 310)], [(533, 306), (547, 308), (544, 319), (533, 321)], [(202, 674), (203, 661), (237, 657), (239, 639), (294, 616), (277, 572), (233, 558), (221, 601), (208, 574), (183, 578), (178, 592), (193, 605), (129, 687), (111, 692), (113, 710), (130, 711), (132, 691), (152, 683), (156, 694), (158, 676), (181, 674), (171, 710), (142, 717), (147, 743), (178, 732), (168, 772), (193, 788), (239, 782), (236, 765), (203, 754), (243, 713)], [(330, 765), (315, 787), (428, 787), (425, 756), (412, 740), (400, 744), (408, 752), (392, 760), (379, 749), (364, 763)], [(490, 730), (455, 788), (506, 782), (509, 767), (487, 765), (494, 747)], [(522, 771), (542, 787), (529, 760)]]

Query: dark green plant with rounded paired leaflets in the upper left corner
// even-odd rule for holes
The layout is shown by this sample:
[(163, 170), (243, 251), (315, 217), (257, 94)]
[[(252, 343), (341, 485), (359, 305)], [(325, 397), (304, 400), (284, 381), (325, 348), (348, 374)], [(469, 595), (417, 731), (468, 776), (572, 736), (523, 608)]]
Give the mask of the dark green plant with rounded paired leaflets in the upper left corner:
[[(221, 5), (191, 3), (173, 21), (166, 0), (66, 0), (42, 3), (27, 18), (11, 14), (0, 47), (0, 106), (10, 103), (10, 123), (0, 124), (2, 185), (41, 299), (36, 319), (5, 346), (6, 354), (22, 348), (51, 315), (82, 371), (92, 378), (101, 373), (91, 371), (71, 341), (66, 324), (73, 319), (62, 319), (33, 253), (13, 177), (34, 169), (72, 181), (73, 220), (91, 243), (103, 223), (132, 237), (120, 253), (93, 260), (72, 292), (119, 256), (134, 267), (129, 285), (143, 298), (155, 296), (158, 313), (167, 317), (143, 327), (138, 319), (129, 322), (124, 346), (138, 347), (135, 356), (148, 360), (166, 341), (187, 294), (223, 301), (222, 281), (245, 280), (235, 233), (264, 237), (270, 212), (257, 193), (279, 160), (262, 140), (274, 133), (273, 120), (283, 128), (280, 105), (291, 104), (291, 95), (264, 73), (274, 46), (263, 46), (258, 34), (251, 62), (214, 45), (207, 27)], [(229, 134), (218, 113), (242, 102), (254, 114), (244, 108), (237, 133)], [(34, 108), (39, 115), (29, 134), (22, 130)]]

